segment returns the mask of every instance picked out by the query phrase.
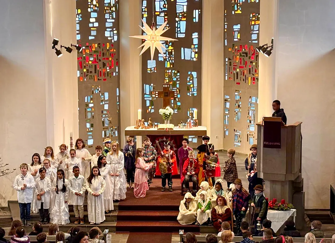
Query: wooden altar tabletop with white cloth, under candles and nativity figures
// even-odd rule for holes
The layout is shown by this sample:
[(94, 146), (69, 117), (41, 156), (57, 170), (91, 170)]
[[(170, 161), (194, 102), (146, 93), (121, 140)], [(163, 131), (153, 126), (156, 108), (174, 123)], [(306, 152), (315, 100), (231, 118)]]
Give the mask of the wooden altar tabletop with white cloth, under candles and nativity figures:
[(130, 126), (125, 129), (125, 137), (147, 136), (147, 135), (183, 135), (197, 136), (197, 146), (202, 144), (202, 136), (207, 135), (207, 127), (198, 126), (189, 129), (175, 127), (173, 130), (158, 130), (157, 128), (135, 129), (135, 126)]

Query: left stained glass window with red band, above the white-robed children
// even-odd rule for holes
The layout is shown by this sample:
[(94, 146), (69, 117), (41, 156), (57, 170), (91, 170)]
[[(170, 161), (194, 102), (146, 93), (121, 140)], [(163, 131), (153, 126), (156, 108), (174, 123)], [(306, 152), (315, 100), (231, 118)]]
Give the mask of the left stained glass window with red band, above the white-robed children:
[(119, 140), (119, 0), (77, 0), (76, 9), (79, 137), (94, 152)]

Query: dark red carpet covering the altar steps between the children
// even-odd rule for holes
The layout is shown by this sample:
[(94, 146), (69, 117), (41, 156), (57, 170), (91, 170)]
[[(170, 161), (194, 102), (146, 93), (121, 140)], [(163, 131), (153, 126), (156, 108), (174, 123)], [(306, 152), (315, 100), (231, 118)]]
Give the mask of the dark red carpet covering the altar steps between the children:
[(180, 179), (173, 179), (173, 192), (161, 192), (160, 189), (160, 179), (153, 180), (145, 198), (135, 198), (134, 190), (128, 189), (126, 200), (119, 203), (116, 231), (172, 233), (184, 229), (186, 232), (199, 233), (199, 226), (180, 225), (177, 221), (183, 199), (180, 195)]

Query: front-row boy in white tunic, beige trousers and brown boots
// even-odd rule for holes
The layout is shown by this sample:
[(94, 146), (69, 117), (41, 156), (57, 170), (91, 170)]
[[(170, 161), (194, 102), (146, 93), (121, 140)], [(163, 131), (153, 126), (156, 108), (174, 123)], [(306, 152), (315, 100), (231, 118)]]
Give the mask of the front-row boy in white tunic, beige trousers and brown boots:
[(84, 224), (84, 198), (86, 191), (86, 182), (84, 176), (79, 174), (79, 166), (72, 168), (73, 175), (69, 178), (70, 202), (73, 205), (75, 224)]

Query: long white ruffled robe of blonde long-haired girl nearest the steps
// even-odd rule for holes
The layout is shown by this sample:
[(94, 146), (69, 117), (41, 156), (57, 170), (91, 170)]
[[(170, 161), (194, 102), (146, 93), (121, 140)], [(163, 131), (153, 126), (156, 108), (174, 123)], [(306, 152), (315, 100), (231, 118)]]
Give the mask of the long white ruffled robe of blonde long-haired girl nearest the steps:
[(112, 173), (120, 174), (119, 176), (111, 176), (113, 200), (126, 199), (127, 180), (123, 170), (125, 164), (124, 154), (119, 151), (118, 155), (114, 156), (109, 152), (106, 159), (111, 166)]

